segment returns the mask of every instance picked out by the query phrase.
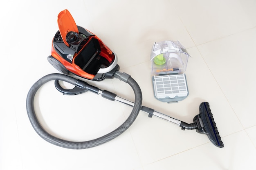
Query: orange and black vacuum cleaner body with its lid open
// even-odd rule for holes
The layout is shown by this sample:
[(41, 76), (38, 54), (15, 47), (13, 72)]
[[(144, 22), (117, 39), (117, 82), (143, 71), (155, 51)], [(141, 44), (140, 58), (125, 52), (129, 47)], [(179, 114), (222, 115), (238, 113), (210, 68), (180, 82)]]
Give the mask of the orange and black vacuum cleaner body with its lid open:
[(101, 81), (106, 73), (119, 69), (117, 57), (90, 31), (77, 26), (70, 12), (58, 14), (59, 31), (52, 41), (49, 63), (58, 71)]

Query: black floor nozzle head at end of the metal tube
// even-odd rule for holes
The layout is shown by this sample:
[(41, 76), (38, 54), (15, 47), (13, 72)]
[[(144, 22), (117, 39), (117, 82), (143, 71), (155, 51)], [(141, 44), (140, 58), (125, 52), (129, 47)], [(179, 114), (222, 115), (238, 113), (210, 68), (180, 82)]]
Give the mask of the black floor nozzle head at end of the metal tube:
[(223, 148), (224, 144), (221, 141), (209, 103), (202, 102), (199, 106), (199, 111), (200, 113), (193, 119), (193, 122), (198, 126), (196, 131), (198, 133), (206, 134), (215, 146)]

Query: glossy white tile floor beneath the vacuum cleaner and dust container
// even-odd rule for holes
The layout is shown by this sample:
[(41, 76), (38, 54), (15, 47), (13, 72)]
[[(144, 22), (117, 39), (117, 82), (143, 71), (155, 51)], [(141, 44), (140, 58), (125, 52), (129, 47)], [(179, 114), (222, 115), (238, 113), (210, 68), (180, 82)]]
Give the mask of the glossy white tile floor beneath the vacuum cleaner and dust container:
[[(143, 105), (190, 123), (200, 102), (209, 102), (225, 147), (143, 112), (127, 131), (95, 148), (70, 150), (40, 138), (29, 122), (25, 101), (34, 82), (58, 72), (46, 58), (63, 9), (117, 53), (121, 71), (141, 87)], [(2, 2), (0, 170), (255, 169), (255, 9), (255, 0)], [(179, 40), (191, 55), (185, 72), (189, 96), (175, 104), (153, 97), (150, 50), (162, 40)], [(117, 79), (87, 82), (134, 99), (130, 87)], [(53, 82), (37, 94), (40, 123), (67, 140), (104, 135), (131, 111), (90, 92), (63, 96)]]

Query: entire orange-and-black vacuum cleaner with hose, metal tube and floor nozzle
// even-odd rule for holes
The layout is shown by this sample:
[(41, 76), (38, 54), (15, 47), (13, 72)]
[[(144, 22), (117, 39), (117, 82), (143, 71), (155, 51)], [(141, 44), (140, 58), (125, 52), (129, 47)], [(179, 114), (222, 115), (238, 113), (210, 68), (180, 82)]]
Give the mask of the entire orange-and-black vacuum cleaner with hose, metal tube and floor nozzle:
[[(58, 27), (59, 31), (57, 31), (52, 41), (51, 55), (47, 59), (54, 68), (63, 74), (48, 74), (40, 78), (30, 88), (26, 100), (27, 115), (31, 125), (40, 137), (51, 144), (63, 148), (92, 148), (121, 135), (121, 133), (126, 131), (135, 121), (139, 112), (143, 111), (148, 113), (148, 117), (150, 118), (156, 116), (167, 120), (168, 122), (177, 124), (182, 130), (195, 129), (198, 133), (207, 135), (215, 146), (219, 148), (224, 147), (208, 102), (202, 102), (200, 104), (199, 114), (193, 118), (192, 123), (182, 122), (155, 111), (155, 109), (141, 106), (142, 94), (139, 85), (129, 74), (119, 71), (120, 68), (117, 64), (116, 54), (110, 50), (99, 37), (81, 26), (77, 26), (67, 9), (59, 13)], [(92, 81), (103, 81), (105, 78), (118, 78), (132, 87), (135, 94), (135, 101), (126, 100), (125, 98), (117, 96), (117, 94), (107, 90), (101, 90), (85, 81), (66, 75), (69, 73)], [(103, 98), (129, 105), (133, 107), (132, 111), (127, 120), (117, 129), (96, 139), (74, 142), (55, 137), (43, 129), (34, 110), (35, 94), (38, 89), (48, 81), (55, 81), (56, 89), (64, 95), (78, 95), (90, 91), (101, 95)], [(65, 89), (61, 87), (59, 81), (65, 81), (75, 86), (73, 89)]]

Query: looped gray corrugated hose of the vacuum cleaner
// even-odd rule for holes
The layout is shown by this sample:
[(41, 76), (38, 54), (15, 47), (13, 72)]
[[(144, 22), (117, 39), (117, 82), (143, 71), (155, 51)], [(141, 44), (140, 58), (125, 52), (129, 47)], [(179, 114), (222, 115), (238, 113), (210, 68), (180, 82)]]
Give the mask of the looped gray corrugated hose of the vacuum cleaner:
[(45, 83), (48, 81), (52, 80), (60, 80), (60, 81), (65, 81), (67, 83), (70, 83), (72, 85), (76, 85), (76, 78), (64, 75), (64, 74), (48, 74), (46, 76), (43, 76), (40, 78), (29, 90), (27, 94), (27, 101), (26, 101), (26, 108), (27, 108), (27, 115), (29, 117), (29, 120), (40, 137), (45, 139), (47, 142), (54, 144), (56, 146), (60, 146), (63, 148), (69, 148), (69, 149), (87, 149), (87, 148), (92, 148), (94, 146), (99, 146), (101, 144), (104, 144), (115, 137), (121, 135), (126, 129), (130, 127), (130, 125), (135, 121), (137, 118), (139, 111), (141, 109), (141, 103), (142, 103), (142, 94), (141, 94), (141, 89), (139, 88), (139, 85), (136, 83), (136, 81), (133, 78), (128, 78), (127, 83), (132, 87), (134, 94), (135, 94), (135, 103), (134, 107), (132, 109), (132, 112), (130, 113), (130, 116), (127, 118), (127, 120), (121, 124), (117, 129), (114, 131), (99, 137), (97, 139), (92, 139), (89, 141), (84, 141), (84, 142), (72, 142), (72, 141), (67, 141), (64, 139), (60, 139), (58, 137), (55, 137), (47, 131), (43, 129), (43, 127), (40, 125), (36, 113), (34, 111), (34, 97), (37, 92), (37, 90)]

